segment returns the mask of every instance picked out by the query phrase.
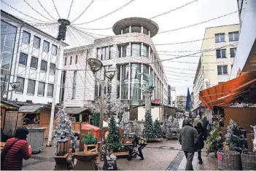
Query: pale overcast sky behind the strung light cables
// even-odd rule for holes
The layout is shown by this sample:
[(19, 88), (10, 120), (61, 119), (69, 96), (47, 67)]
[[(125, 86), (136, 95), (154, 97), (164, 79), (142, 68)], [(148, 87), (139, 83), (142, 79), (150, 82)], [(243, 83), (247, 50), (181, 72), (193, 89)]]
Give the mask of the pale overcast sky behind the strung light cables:
[[(26, 4), (23, 0), (4, 0), (12, 7), (20, 10), (26, 15), (35, 17), (39, 20), (47, 21), (44, 17), (36, 13), (31, 7), (44, 15), (47, 18), (51, 17), (47, 15), (44, 9), (40, 6), (39, 2), (36, 0), (26, 0), (31, 7)], [(58, 19), (58, 14), (55, 10), (52, 0), (39, 0), (43, 7), (52, 15), (55, 19)], [(74, 22), (75, 23), (85, 23), (90, 20), (94, 20), (98, 17), (106, 15), (109, 12), (114, 11), (118, 7), (123, 6), (123, 4), (128, 3), (130, 0), (95, 0), (93, 4), (87, 9), (87, 11)], [(167, 12), (171, 9), (175, 9), (184, 4), (193, 0), (135, 0), (128, 4), (128, 6), (120, 9), (119, 11), (97, 20), (93, 23), (77, 25), (83, 28), (111, 28), (114, 23), (118, 20), (121, 20), (125, 17), (146, 17), (150, 18), (155, 15), (159, 15), (163, 12)], [(57, 7), (58, 13), (62, 18), (67, 18), (69, 14), (69, 9), (71, 5), (71, 0), (54, 0)], [(74, 0), (71, 7), (71, 12), (69, 15), (69, 20), (73, 21), (77, 18), (82, 11), (88, 7), (91, 0)], [(23, 17), (27, 20), (36, 21), (26, 15), (20, 14), (20, 12), (15, 11), (14, 9), (8, 7), (6, 4), (1, 3), (1, 9), (11, 13), (12, 15)], [(182, 9), (177, 9), (174, 12), (170, 12), (167, 15), (160, 17), (155, 17), (152, 19), (159, 26), (159, 32), (172, 30), (175, 28), (182, 28), (187, 25), (193, 25), (195, 23), (200, 23), (204, 20), (209, 20), (220, 15), (226, 15), (230, 12), (235, 12), (237, 10), (236, 0), (198, 0), (192, 4), (183, 7)], [(203, 34), (206, 28), (214, 27), (219, 25), (230, 25), (238, 23), (238, 13), (228, 15), (227, 17), (222, 17), (217, 20), (213, 20), (209, 23), (204, 23), (201, 25), (196, 25), (190, 28), (181, 29), (179, 31), (171, 31), (168, 33), (160, 33), (152, 38), (155, 44), (164, 44), (164, 43), (174, 43), (180, 41), (191, 41), (195, 39), (203, 39)], [(44, 27), (46, 28), (46, 27)], [(56, 30), (57, 31), (57, 30)], [(103, 30), (103, 31), (89, 31), (91, 33), (97, 33), (102, 35), (114, 35), (112, 29)], [(68, 40), (67, 40), (68, 41)], [(82, 41), (80, 41), (82, 42)], [(67, 42), (70, 43), (70, 42)], [(158, 51), (189, 51), (189, 50), (200, 50), (201, 41), (196, 41), (193, 43), (186, 44), (172, 44), (160, 46), (156, 45)], [(162, 60), (169, 59), (171, 55), (187, 55), (193, 52), (158, 52)], [(166, 54), (166, 55), (164, 55)], [(198, 56), (198, 55), (197, 55)], [(190, 92), (193, 91), (193, 77), (192, 74), (185, 73), (195, 73), (197, 63), (186, 63), (186, 62), (198, 62), (199, 57), (182, 57), (176, 61), (182, 61), (185, 63), (177, 63), (175, 60), (164, 61), (163, 65), (165, 67), (166, 76), (168, 78), (168, 84), (171, 84), (172, 87), (176, 87), (177, 95), (186, 95), (187, 87), (190, 88)], [(173, 68), (170, 68), (173, 67)], [(180, 69), (177, 69), (180, 68)], [(189, 69), (189, 70), (184, 70)], [(216, 68), (217, 69), (217, 68)], [(177, 73), (173, 73), (177, 72)], [(174, 76), (176, 75), (176, 76)], [(186, 76), (186, 77), (185, 77)], [(187, 77), (190, 76), (190, 77)], [(178, 80), (179, 79), (179, 80)]]

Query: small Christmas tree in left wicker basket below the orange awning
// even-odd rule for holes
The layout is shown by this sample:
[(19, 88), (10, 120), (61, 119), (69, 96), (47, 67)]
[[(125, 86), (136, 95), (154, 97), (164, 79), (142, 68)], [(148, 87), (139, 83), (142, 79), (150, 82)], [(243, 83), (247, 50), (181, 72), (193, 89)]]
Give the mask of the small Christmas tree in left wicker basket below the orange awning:
[(230, 119), (228, 132), (225, 135), (228, 148), (232, 151), (246, 151), (247, 138), (241, 132), (241, 127), (238, 126), (236, 122)]

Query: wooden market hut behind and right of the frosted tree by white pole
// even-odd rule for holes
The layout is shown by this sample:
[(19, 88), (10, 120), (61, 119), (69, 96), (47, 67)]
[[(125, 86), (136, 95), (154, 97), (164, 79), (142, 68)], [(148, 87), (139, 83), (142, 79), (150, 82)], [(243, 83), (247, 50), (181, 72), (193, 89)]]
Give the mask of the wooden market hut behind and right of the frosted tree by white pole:
[(91, 111), (89, 108), (64, 108), (72, 122), (72, 127), (74, 131), (79, 132), (82, 124), (90, 123)]

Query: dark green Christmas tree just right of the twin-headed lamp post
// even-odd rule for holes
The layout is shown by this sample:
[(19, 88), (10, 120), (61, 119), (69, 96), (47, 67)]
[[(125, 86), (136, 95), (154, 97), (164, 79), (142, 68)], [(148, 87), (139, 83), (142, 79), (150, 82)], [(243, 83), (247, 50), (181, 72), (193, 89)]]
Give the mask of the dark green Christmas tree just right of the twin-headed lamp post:
[(107, 137), (107, 146), (112, 152), (120, 151), (122, 147), (122, 143), (120, 143), (120, 134), (117, 129), (117, 125), (115, 124), (114, 116), (111, 116), (109, 122), (109, 135)]

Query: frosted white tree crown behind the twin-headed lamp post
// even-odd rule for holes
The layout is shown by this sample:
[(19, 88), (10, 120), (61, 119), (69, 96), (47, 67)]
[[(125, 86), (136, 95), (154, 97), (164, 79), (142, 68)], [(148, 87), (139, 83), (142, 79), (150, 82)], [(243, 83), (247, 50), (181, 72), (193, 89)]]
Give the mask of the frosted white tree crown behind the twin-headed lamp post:
[[(101, 98), (98, 98), (95, 103), (89, 108), (93, 114), (101, 113)], [(122, 103), (120, 99), (114, 98), (111, 95), (104, 95), (104, 115), (110, 117), (112, 114), (123, 114), (128, 108), (127, 103)]]

